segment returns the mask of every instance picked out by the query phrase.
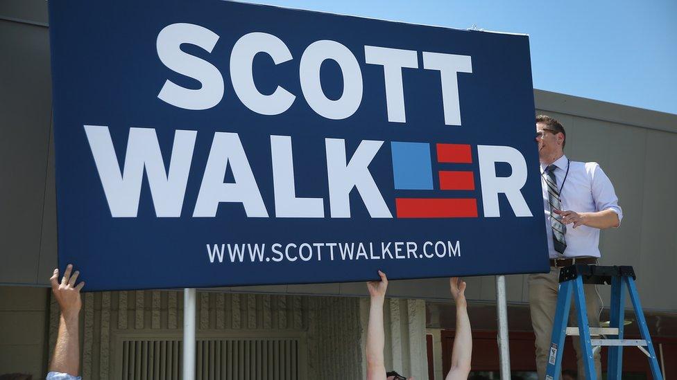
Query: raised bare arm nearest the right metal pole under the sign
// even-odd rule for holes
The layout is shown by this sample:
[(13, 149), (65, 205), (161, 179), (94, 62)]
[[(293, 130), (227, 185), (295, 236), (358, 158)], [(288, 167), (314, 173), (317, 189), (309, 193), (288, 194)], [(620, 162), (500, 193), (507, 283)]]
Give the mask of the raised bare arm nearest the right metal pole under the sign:
[(472, 356), (472, 333), (468, 318), (468, 305), (465, 302), (465, 282), (460, 278), (450, 278), (452, 297), (456, 301), (456, 335), (452, 351), (452, 368), (446, 380), (466, 380), (470, 373)]

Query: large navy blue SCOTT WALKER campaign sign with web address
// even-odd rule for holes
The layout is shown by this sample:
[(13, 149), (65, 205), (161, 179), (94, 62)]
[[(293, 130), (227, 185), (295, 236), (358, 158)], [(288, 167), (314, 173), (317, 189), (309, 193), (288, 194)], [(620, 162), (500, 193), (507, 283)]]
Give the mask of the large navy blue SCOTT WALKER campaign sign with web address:
[(88, 290), (547, 271), (524, 35), (49, 1), (60, 266)]

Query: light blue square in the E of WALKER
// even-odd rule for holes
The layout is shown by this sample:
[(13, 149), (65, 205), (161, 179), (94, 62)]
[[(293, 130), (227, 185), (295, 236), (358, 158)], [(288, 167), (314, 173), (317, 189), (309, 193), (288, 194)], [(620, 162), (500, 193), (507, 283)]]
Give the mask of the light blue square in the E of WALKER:
[(391, 142), (395, 190), (433, 190), (429, 143)]

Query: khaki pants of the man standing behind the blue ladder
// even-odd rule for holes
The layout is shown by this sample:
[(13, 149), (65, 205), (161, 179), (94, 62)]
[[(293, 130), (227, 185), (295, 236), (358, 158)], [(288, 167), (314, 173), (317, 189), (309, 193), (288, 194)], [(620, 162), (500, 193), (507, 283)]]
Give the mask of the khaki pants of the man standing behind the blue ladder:
[[(529, 275), (529, 311), (531, 311), (531, 324), (536, 336), (536, 369), (538, 370), (538, 379), (545, 379), (552, 325), (557, 309), (559, 275), (560, 269), (552, 266), (550, 267), (550, 273)], [(583, 288), (590, 327), (599, 327), (601, 305), (599, 304), (599, 296), (597, 295), (595, 285), (585, 284)], [(568, 326), (576, 326), (576, 321), (576, 303), (572, 299)], [(576, 350), (579, 379), (585, 379), (585, 364), (581, 357), (581, 345), (577, 336), (574, 336), (574, 350)], [(594, 366), (597, 370), (597, 379), (601, 379), (599, 351), (597, 354), (594, 354)]]

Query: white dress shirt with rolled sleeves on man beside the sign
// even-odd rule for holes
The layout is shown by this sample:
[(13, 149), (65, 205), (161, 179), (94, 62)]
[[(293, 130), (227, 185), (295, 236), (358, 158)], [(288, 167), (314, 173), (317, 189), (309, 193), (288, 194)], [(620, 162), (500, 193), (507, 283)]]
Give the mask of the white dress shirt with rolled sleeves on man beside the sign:
[[(552, 163), (557, 168), (554, 171), (557, 188), (560, 189), (560, 206), (562, 211), (597, 212), (613, 210), (618, 215), (619, 223), (623, 219), (623, 211), (618, 206), (618, 197), (613, 185), (596, 162), (569, 161), (567, 156), (561, 156)], [(599, 257), (599, 228), (588, 226), (567, 225), (565, 239), (567, 249), (564, 255), (555, 251), (552, 242), (552, 227), (550, 224), (550, 204), (548, 200), (547, 184), (545, 183), (545, 168), (541, 164), (541, 184), (543, 188), (543, 206), (545, 207), (545, 225), (548, 235), (548, 252), (551, 259), (564, 257)], [(569, 174), (567, 174), (567, 166)], [(566, 180), (565, 180), (566, 177)]]

